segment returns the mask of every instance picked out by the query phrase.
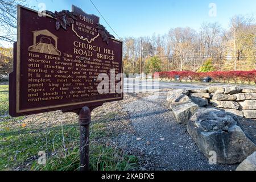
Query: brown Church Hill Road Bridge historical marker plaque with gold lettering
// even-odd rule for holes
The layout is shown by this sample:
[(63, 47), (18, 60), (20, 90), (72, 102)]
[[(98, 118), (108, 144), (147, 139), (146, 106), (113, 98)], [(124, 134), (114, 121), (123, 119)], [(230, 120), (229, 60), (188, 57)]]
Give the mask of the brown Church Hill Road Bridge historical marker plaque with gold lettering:
[(122, 42), (106, 31), (97, 16), (76, 6), (72, 11), (47, 11), (45, 16), (18, 7), (10, 115), (122, 100), (122, 73)]

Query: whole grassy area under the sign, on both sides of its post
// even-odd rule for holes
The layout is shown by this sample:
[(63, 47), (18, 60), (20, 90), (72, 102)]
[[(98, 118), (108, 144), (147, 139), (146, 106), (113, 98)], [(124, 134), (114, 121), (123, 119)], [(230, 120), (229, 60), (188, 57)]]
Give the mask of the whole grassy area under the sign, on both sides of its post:
[[(8, 113), (8, 86), (0, 85), (0, 170), (73, 171), (79, 169), (79, 125), (26, 126), (24, 117)], [(47, 113), (48, 114), (48, 113)], [(135, 156), (106, 144), (109, 139), (106, 115), (90, 126), (90, 170), (131, 170), (138, 167)], [(46, 122), (46, 121), (45, 121)], [(18, 124), (17, 124), (18, 123)], [(39, 151), (46, 152), (46, 165), (39, 165)]]

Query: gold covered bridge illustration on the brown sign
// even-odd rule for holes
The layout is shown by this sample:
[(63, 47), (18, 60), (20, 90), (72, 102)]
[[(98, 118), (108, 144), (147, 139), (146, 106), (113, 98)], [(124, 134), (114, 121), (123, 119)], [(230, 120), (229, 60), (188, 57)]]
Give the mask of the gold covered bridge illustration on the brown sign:
[(56, 35), (48, 30), (33, 31), (33, 46), (28, 47), (28, 51), (46, 53), (49, 55), (60, 56), (61, 52), (57, 49), (58, 39)]

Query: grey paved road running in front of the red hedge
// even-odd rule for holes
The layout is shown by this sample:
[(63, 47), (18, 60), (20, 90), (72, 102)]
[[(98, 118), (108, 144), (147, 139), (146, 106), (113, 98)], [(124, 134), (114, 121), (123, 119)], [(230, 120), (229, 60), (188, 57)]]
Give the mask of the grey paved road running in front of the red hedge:
[[(184, 82), (159, 82), (159, 81), (146, 81), (139, 80), (134, 78), (125, 78), (124, 81), (124, 91), (125, 93), (134, 93), (134, 92), (151, 92), (156, 91), (158, 89), (188, 89), (188, 88), (206, 88), (208, 86), (230, 86), (229, 84), (221, 84), (221, 83), (184, 83)], [(234, 86), (232, 84), (232, 86)], [(251, 85), (239, 85), (243, 88), (251, 88), (255, 86)]]

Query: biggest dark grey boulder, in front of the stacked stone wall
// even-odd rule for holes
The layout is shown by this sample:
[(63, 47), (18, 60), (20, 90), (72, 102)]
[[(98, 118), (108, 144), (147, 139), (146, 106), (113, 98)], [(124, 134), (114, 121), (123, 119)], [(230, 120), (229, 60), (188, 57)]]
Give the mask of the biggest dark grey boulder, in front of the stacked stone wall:
[(235, 164), (256, 150), (256, 145), (246, 137), (237, 122), (238, 118), (233, 114), (217, 109), (200, 109), (189, 119), (187, 130), (207, 158), (214, 151), (217, 163)]

